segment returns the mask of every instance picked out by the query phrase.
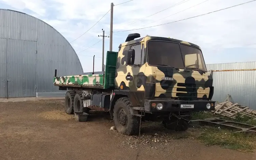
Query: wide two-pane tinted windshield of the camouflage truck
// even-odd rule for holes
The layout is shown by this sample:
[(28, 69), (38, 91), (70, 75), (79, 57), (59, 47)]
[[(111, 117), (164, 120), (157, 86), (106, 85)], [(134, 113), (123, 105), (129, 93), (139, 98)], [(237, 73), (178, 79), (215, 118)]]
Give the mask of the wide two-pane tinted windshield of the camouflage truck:
[(164, 41), (148, 41), (148, 64), (207, 71), (202, 52), (194, 47)]

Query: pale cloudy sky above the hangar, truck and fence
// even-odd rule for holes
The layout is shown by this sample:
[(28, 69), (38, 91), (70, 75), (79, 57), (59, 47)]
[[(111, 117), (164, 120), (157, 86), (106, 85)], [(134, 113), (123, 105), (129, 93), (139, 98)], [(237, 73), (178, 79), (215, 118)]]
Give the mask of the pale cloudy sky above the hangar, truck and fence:
[[(117, 5), (126, 1), (128, 0), (0, 0), (0, 8), (37, 17), (53, 26), (71, 42), (102, 18), (110, 10), (111, 2), (116, 5), (113, 25), (115, 32), (193, 17), (250, 0), (133, 0)], [(159, 12), (168, 7), (169, 9)], [(158, 27), (116, 32), (113, 34), (113, 51), (118, 51), (119, 44), (125, 42), (129, 33), (140, 33), (141, 36), (164, 36), (195, 43), (201, 47), (206, 64), (256, 61), (255, 15), (256, 1)], [(92, 71), (93, 55), (96, 57), (95, 71), (101, 71), (102, 41), (97, 43), (101, 39), (98, 37), (102, 35), (101, 29), (109, 35), (110, 12), (91, 30), (71, 43), (78, 53), (84, 72)], [(97, 44), (94, 45), (95, 43)], [(87, 49), (92, 45), (94, 46)], [(104, 48), (105, 52), (109, 50), (109, 38), (105, 38)]]

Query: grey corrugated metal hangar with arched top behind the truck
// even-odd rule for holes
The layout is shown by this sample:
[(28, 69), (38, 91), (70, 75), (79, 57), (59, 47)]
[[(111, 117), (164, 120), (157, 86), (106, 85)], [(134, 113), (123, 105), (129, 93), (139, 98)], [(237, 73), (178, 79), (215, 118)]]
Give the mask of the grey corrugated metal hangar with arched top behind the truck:
[(0, 98), (61, 92), (53, 85), (55, 69), (83, 74), (67, 39), (38, 18), (0, 9)]

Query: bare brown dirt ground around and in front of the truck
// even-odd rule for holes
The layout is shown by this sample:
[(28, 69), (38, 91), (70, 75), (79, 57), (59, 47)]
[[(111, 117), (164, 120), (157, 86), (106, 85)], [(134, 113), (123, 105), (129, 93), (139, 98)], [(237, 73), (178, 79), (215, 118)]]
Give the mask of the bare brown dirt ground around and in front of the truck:
[(144, 138), (139, 142), (136, 137), (110, 131), (113, 121), (103, 113), (92, 115), (88, 122), (76, 122), (73, 115), (65, 113), (63, 102), (51, 99), (0, 103), (1, 160), (256, 159), (253, 153), (207, 147), (191, 138), (167, 138), (172, 133), (158, 132), (162, 126), (155, 123), (142, 124)]

